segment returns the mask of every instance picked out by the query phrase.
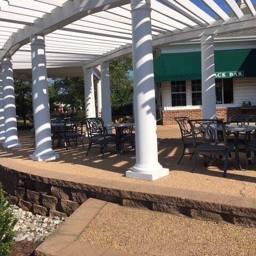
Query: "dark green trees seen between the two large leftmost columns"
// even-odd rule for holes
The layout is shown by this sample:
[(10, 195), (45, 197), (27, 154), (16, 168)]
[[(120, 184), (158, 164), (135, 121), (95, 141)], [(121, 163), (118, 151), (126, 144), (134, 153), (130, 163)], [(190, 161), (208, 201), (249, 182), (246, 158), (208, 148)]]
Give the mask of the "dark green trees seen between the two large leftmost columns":
[(14, 79), (16, 113), (22, 117), (26, 126), (26, 116), (33, 113), (32, 84), (30, 82)]

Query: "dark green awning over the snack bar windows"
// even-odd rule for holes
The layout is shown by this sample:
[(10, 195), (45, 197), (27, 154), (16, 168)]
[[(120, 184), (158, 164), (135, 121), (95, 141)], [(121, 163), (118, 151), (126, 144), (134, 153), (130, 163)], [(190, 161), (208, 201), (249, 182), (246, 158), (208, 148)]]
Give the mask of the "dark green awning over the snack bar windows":
[[(215, 51), (215, 72), (256, 76), (256, 49)], [(165, 53), (154, 61), (155, 82), (201, 79), (201, 52)]]

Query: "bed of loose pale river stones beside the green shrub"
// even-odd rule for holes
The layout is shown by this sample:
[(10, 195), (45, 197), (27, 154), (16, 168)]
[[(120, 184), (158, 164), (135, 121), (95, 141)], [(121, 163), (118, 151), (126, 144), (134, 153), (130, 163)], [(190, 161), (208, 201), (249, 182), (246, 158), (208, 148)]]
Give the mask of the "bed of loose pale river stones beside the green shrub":
[(42, 242), (64, 221), (63, 218), (59, 217), (34, 215), (31, 212), (23, 211), (16, 205), (12, 205), (12, 207), (13, 213), (18, 220), (14, 226), (15, 242)]

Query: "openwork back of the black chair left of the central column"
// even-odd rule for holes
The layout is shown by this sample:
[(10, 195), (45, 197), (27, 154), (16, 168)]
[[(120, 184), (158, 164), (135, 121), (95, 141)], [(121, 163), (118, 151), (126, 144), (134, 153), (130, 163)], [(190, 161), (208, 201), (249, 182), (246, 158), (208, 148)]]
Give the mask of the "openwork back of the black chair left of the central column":
[(106, 128), (100, 117), (86, 118), (85, 125), (88, 133), (88, 138), (93, 138), (99, 135), (106, 136)]

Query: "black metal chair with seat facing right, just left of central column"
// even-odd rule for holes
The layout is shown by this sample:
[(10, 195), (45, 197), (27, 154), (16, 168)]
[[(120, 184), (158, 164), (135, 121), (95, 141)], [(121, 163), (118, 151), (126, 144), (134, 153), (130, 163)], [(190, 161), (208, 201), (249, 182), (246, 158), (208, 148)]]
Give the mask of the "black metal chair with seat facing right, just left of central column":
[(108, 134), (102, 118), (86, 118), (85, 124), (89, 138), (86, 156), (88, 156), (92, 145), (100, 145), (102, 158), (109, 144), (115, 144), (117, 148), (117, 137), (115, 134)]

